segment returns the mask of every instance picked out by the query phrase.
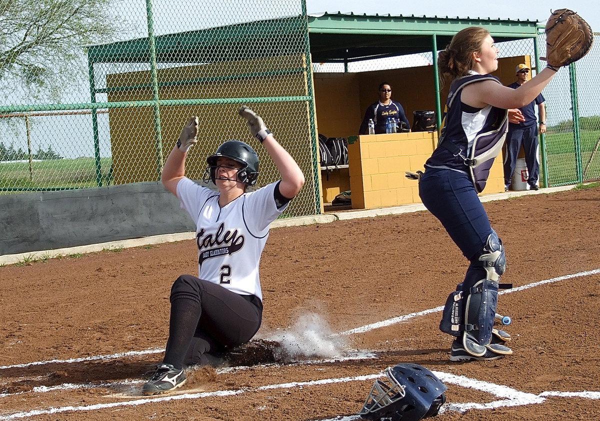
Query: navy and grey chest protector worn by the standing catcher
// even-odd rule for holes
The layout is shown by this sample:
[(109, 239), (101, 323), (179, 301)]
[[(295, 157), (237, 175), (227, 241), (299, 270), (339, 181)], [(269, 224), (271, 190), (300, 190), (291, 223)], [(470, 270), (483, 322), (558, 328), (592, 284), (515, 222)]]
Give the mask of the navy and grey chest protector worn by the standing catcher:
[[(455, 82), (458, 86), (454, 86), (454, 83), (452, 83), (450, 89), (453, 94), (448, 97), (448, 101), (446, 102), (445, 118), (450, 113), (454, 100), (460, 98), (459, 93), (465, 86), (470, 85), (471, 83), (481, 82), (482, 80), (493, 80), (494, 82), (500, 83), (498, 79), (492, 76), (480, 76), (466, 79), (467, 80), (464, 80), (462, 83), (460, 80), (457, 81), (458, 83)], [(460, 103), (454, 104), (454, 106), (460, 107)], [(496, 112), (494, 112), (494, 109)], [(473, 182), (473, 186), (475, 186), (476, 192), (481, 193), (485, 189), (485, 184), (490, 175), (490, 169), (494, 163), (494, 159), (496, 159), (502, 150), (507, 130), (508, 111), (492, 107), (492, 111), (488, 115), (482, 130), (477, 133), (475, 139), (473, 139), (473, 145), (470, 151), (463, 151), (461, 147), (446, 138), (444, 130), (442, 130), (442, 136), (438, 145), (442, 145), (455, 157), (460, 157), (460, 159), (463, 160), (464, 165), (468, 168), (468, 174)]]

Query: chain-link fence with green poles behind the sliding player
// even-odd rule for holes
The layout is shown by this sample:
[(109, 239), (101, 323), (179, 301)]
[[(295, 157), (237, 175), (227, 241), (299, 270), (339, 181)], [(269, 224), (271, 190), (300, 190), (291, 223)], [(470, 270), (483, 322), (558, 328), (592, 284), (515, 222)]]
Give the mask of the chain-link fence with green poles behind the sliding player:
[[(31, 1), (16, 0), (22, 6)], [(68, 21), (76, 10), (64, 10), (64, 3), (42, 2), (44, 16)], [(199, 117), (200, 133), (187, 159), (188, 177), (206, 178), (206, 157), (222, 142), (239, 139), (259, 155), (258, 184), (271, 183), (278, 179), (277, 168), (239, 117), (242, 104), (261, 115), (292, 153), (307, 186), (318, 185), (304, 2), (74, 3), (112, 25), (88, 33), (77, 28), (86, 36), (67, 37), (72, 44), (56, 51), (67, 65), (52, 69), (64, 76), (60, 80), (43, 79), (50, 68), (44, 70), (44, 62), (38, 80), (28, 80), (27, 64), (11, 64), (11, 51), (0, 51), (0, 88), (8, 91), (0, 106), (0, 193), (160, 180), (164, 160), (192, 115)], [(12, 8), (0, 13), (20, 16)], [(26, 25), (15, 29), (22, 38), (35, 29)], [(55, 28), (54, 34), (61, 32)], [(49, 29), (46, 36), (52, 35)], [(1, 41), (18, 48), (17, 40)], [(77, 44), (82, 42), (83, 47)], [(303, 189), (286, 216), (319, 213), (318, 192)]]

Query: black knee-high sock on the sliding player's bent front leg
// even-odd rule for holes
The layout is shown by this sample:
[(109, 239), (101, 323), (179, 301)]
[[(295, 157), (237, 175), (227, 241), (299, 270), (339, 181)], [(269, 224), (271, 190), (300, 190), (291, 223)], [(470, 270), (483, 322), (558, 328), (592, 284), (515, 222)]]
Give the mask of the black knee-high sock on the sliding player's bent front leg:
[(177, 298), (172, 301), (169, 340), (164, 353), (164, 363), (172, 364), (176, 369), (184, 367), (185, 353), (196, 332), (200, 313), (202, 307), (197, 301), (189, 298)]

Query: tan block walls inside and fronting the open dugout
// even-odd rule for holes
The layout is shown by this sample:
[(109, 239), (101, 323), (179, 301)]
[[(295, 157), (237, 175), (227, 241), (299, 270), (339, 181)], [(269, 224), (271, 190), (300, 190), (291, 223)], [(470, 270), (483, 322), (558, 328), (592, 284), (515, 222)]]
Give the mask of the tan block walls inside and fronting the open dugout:
[[(520, 63), (531, 67), (530, 56), (500, 58), (494, 76), (503, 85), (509, 85), (516, 80), (514, 70)], [(357, 135), (364, 112), (377, 100), (377, 88), (382, 82), (392, 85), (392, 99), (402, 104), (412, 127), (413, 111), (435, 110), (433, 77), (431, 65), (364, 73), (316, 73), (319, 133), (345, 138)], [(440, 92), (442, 108), (448, 90), (446, 83)], [(323, 201), (331, 202), (350, 186), (355, 209), (421, 202), (416, 181), (404, 177), (404, 171), (422, 171), (436, 144), (437, 133), (360, 136), (358, 142), (349, 145), (349, 180), (345, 178), (346, 170), (335, 170), (329, 180), (322, 172)], [(490, 170), (486, 194), (504, 191), (502, 162), (500, 154)]]

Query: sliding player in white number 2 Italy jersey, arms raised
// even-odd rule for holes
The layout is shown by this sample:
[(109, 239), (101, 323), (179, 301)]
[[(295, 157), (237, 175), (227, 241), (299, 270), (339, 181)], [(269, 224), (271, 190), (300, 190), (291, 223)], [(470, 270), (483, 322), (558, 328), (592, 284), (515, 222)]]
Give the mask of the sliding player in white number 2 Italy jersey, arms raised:
[(144, 395), (185, 383), (185, 366), (208, 362), (211, 353), (250, 341), (262, 320), (259, 262), (277, 218), (302, 188), (304, 174), (250, 108), (239, 115), (263, 144), (281, 180), (254, 192), (259, 159), (244, 142), (227, 141), (206, 159), (218, 193), (185, 177), (185, 157), (196, 143), (198, 119), (188, 121), (167, 159), (161, 180), (196, 221), (198, 277), (179, 276), (171, 288), (169, 339), (163, 362), (143, 386)]

